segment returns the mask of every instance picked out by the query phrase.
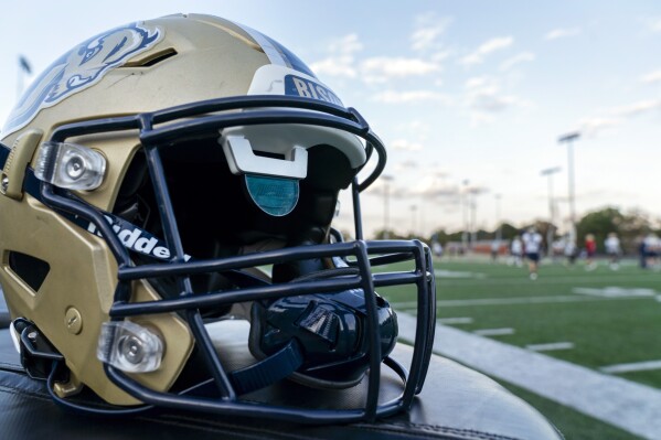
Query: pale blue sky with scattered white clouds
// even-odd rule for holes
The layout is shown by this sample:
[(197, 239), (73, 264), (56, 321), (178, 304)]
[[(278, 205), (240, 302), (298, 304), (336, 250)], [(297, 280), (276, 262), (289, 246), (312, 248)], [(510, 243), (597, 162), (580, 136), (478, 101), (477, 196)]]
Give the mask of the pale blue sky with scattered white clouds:
[[(15, 2), (0, 15), (0, 121), (74, 45), (177, 12), (259, 30), (365, 117), (388, 150), (388, 179), (362, 197), (367, 236), (386, 223), (423, 236), (523, 227), (550, 219), (552, 204), (566, 227), (572, 178), (577, 217), (612, 206), (661, 218), (661, 3), (651, 0)], [(558, 142), (573, 132), (571, 147)], [(343, 195), (341, 227), (350, 205)]]

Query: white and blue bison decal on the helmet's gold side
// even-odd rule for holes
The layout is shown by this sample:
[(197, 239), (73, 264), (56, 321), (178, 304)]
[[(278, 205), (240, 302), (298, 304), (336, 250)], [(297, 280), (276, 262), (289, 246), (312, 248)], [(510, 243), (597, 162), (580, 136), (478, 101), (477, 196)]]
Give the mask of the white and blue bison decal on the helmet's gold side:
[(18, 101), (2, 129), (4, 136), (28, 125), (42, 108), (98, 83), (113, 67), (153, 46), (158, 28), (132, 23), (94, 36), (55, 61)]

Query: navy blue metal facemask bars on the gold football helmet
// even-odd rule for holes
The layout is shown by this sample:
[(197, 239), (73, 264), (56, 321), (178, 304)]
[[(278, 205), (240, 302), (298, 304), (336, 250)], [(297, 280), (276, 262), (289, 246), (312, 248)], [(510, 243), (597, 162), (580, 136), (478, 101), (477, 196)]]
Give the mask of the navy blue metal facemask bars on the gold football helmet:
[[(250, 109), (250, 111), (216, 114), (217, 111)], [(312, 110), (312, 111), (310, 111)], [(200, 117), (204, 115), (203, 117)], [(199, 118), (185, 119), (198, 116)], [(354, 243), (337, 243), (330, 245), (313, 245), (291, 247), (237, 256), (223, 259), (210, 259), (185, 262), (185, 253), (178, 233), (174, 211), (168, 193), (166, 176), (159, 154), (160, 148), (169, 148), (182, 135), (220, 130), (231, 126), (246, 126), (259, 124), (307, 124), (322, 127), (337, 128), (356, 135), (366, 141), (367, 160), (371, 153), (377, 152), (377, 163), (374, 171), (362, 182), (354, 179), (352, 185), (354, 203), (354, 222), (358, 240)], [(162, 125), (157, 128), (154, 126)], [(103, 214), (90, 205), (73, 196), (70, 192), (54, 187), (50, 183), (41, 184), (42, 201), (58, 211), (64, 211), (82, 216), (92, 222), (100, 232), (111, 253), (118, 261), (119, 283), (115, 293), (115, 302), (110, 309), (114, 321), (121, 321), (126, 316), (138, 314), (164, 313), (184, 311), (191, 331), (193, 332), (200, 350), (204, 352), (207, 368), (213, 375), (222, 399), (200, 399), (185, 395), (172, 395), (150, 390), (124, 373), (105, 364), (107, 375), (120, 388), (138, 399), (157, 406), (199, 409), (212, 412), (235, 415), (262, 415), (263, 417), (287, 419), (308, 422), (349, 422), (359, 420), (373, 420), (411, 407), (413, 397), (419, 393), (426, 375), (427, 365), (431, 355), (431, 342), (435, 328), (435, 286), (431, 275), (431, 258), (426, 246), (417, 240), (387, 240), (363, 242), (362, 224), (360, 216), (359, 194), (373, 183), (385, 167), (385, 149), (381, 140), (370, 130), (364, 119), (354, 109), (313, 101), (296, 97), (274, 96), (246, 96), (236, 98), (214, 99), (183, 105), (157, 112), (140, 114), (121, 118), (107, 118), (71, 124), (56, 129), (51, 140), (64, 142), (68, 137), (96, 132), (119, 131), (138, 129), (140, 140), (145, 148), (151, 181), (160, 211), (164, 240), (172, 251), (172, 259), (168, 264), (148, 264), (135, 267), (128, 250), (121, 245), (114, 234)], [(370, 258), (371, 255), (376, 257)], [(232, 291), (210, 292), (207, 294), (193, 294), (190, 276), (195, 273), (223, 271), (254, 267), (263, 264), (281, 262), (288, 260), (306, 259), (311, 257), (342, 257), (352, 256), (353, 265), (359, 269), (354, 277), (316, 280), (314, 282), (270, 285)], [(371, 273), (371, 267), (392, 264), (401, 260), (415, 260), (416, 269), (413, 272)], [(129, 303), (130, 281), (175, 276), (179, 290), (188, 292), (177, 299), (159, 300), (152, 302)], [(388, 403), (379, 404), (381, 344), (379, 343), (379, 325), (376, 321), (376, 304), (374, 288), (385, 286), (416, 285), (418, 300), (418, 325), (412, 359), (411, 374), (398, 366), (395, 361), (386, 357), (386, 365), (395, 369), (405, 383), (403, 394)], [(349, 288), (360, 288), (365, 296), (367, 308), (369, 341), (370, 341), (370, 374), (367, 398), (364, 409), (333, 409), (308, 410), (299, 408), (282, 408), (269, 405), (255, 406), (243, 403), (237, 398), (232, 384), (221, 366), (218, 355), (204, 330), (204, 323), (198, 308), (218, 305), (233, 302), (243, 302), (265, 298), (280, 298), (284, 296), (298, 296), (312, 292), (340, 291)]]

